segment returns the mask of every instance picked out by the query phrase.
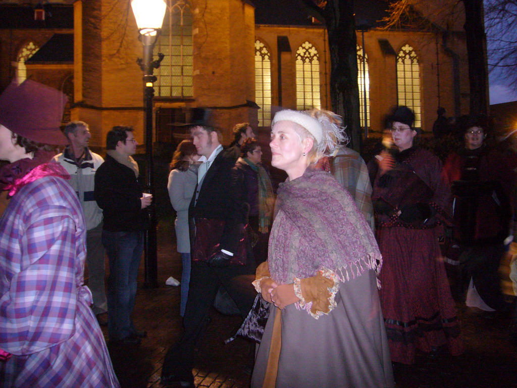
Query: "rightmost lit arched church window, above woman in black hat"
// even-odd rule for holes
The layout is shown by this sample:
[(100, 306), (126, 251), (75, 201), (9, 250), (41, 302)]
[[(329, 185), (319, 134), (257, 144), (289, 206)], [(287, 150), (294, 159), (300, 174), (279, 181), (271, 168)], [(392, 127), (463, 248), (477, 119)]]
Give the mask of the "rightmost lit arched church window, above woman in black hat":
[(397, 97), (398, 104), (415, 112), (415, 127), (422, 126), (420, 116), (420, 65), (413, 47), (406, 44), (397, 55)]

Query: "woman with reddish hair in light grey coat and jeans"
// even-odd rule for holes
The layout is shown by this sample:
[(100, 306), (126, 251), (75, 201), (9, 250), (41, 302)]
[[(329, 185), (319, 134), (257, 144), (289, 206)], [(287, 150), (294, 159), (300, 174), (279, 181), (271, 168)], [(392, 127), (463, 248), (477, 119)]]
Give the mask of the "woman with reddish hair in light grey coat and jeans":
[(181, 302), (180, 315), (185, 314), (190, 281), (190, 241), (189, 241), (189, 204), (197, 183), (197, 155), (191, 140), (179, 143), (170, 164), (169, 198), (176, 211), (174, 228), (176, 230), (177, 251), (181, 255)]

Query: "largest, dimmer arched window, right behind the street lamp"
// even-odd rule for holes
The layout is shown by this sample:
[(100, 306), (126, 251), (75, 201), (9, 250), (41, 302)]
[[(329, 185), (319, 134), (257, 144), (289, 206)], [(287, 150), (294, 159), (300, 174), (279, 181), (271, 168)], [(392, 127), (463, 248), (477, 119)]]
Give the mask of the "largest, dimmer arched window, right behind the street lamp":
[(159, 97), (192, 97), (192, 12), (188, 0), (167, 0), (154, 53), (165, 54), (155, 87)]

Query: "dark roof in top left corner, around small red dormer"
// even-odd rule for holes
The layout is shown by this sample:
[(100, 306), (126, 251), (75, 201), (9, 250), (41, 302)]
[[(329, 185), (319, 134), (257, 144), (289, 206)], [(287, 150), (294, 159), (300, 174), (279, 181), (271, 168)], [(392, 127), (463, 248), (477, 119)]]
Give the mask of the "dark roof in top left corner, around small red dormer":
[(0, 28), (73, 28), (73, 6), (45, 4), (45, 20), (34, 20), (34, 7), (0, 5)]

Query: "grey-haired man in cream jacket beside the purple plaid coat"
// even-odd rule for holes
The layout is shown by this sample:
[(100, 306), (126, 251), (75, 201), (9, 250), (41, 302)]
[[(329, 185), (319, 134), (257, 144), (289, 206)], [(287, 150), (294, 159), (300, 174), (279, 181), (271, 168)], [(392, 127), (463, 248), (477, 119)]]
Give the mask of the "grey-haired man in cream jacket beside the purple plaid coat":
[(86, 222), (86, 265), (88, 266), (88, 287), (92, 291), (94, 314), (101, 326), (108, 325), (108, 303), (104, 290), (104, 248), (102, 236), (102, 210), (94, 198), (95, 171), (104, 162), (100, 155), (88, 148), (90, 130), (82, 121), (72, 121), (65, 126), (68, 145), (65, 151), (56, 155), (54, 161), (70, 174), (70, 185), (79, 196)]

